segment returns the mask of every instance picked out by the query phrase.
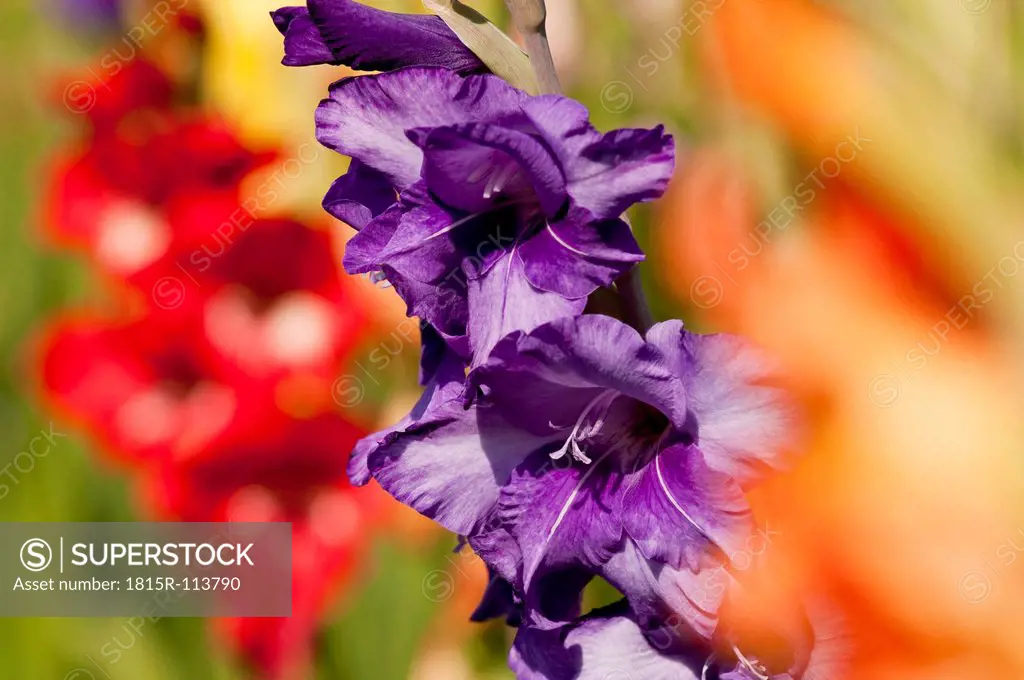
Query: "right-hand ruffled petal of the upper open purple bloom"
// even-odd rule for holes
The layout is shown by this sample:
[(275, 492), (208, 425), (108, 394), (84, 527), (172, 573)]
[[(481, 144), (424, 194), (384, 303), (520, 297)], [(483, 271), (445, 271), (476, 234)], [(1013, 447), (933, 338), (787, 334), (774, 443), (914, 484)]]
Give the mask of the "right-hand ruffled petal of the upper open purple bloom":
[(531, 97), (523, 110), (558, 157), (569, 196), (595, 219), (617, 218), (665, 194), (676, 158), (662, 126), (601, 134), (586, 107), (558, 95)]

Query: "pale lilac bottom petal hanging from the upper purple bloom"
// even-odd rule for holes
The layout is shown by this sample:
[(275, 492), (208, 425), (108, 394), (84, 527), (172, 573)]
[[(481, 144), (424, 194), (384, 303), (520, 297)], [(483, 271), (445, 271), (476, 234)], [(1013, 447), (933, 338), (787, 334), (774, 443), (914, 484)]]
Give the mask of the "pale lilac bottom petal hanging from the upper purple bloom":
[(529, 285), (516, 246), (481, 278), (469, 281), (469, 340), (473, 366), (513, 331), (529, 332), (550, 321), (580, 314), (586, 299), (567, 300)]

